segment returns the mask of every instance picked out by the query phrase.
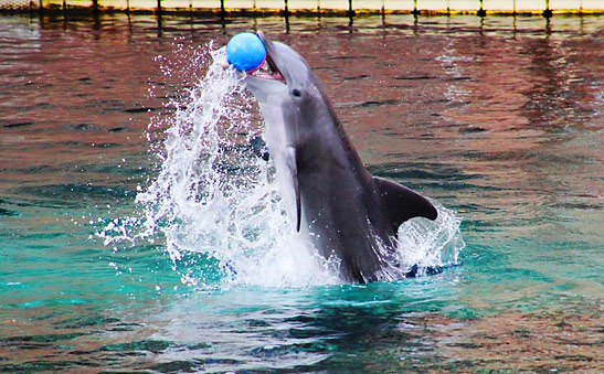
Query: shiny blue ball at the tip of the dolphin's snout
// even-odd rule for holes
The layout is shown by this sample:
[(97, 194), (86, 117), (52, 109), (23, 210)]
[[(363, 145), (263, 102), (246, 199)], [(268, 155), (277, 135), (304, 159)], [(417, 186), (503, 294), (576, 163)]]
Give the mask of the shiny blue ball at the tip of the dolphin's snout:
[(265, 60), (266, 47), (254, 33), (239, 33), (226, 44), (226, 62), (239, 71), (252, 73), (258, 70)]

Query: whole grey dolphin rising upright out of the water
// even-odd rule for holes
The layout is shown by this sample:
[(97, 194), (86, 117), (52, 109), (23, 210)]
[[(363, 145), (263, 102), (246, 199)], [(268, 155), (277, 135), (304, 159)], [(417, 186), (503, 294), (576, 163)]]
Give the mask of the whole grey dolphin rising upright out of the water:
[[(436, 209), (417, 192), (371, 177), (306, 61), (257, 33), (266, 64), (243, 83), (266, 122), (279, 193), (294, 227), (348, 282), (405, 277), (395, 256), (399, 226)], [(409, 276), (409, 275), (407, 275)]]

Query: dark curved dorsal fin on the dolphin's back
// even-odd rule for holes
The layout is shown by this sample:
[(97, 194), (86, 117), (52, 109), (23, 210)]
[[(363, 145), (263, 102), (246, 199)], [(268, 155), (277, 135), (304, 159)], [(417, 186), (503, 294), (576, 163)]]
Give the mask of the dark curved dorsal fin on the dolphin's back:
[(382, 197), (382, 206), (392, 222), (394, 232), (403, 222), (413, 217), (434, 221), (438, 216), (434, 205), (417, 192), (380, 177), (373, 177), (372, 180)]

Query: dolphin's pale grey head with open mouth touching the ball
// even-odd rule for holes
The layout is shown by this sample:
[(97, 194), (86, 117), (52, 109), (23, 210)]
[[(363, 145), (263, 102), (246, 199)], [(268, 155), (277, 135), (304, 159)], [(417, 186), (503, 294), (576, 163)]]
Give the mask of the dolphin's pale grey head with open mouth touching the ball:
[(262, 31), (258, 38), (266, 47), (265, 65), (247, 75), (246, 87), (261, 106), (278, 99), (279, 104), (300, 106), (301, 101), (325, 100), (322, 89), (306, 61), (290, 46), (271, 41)]

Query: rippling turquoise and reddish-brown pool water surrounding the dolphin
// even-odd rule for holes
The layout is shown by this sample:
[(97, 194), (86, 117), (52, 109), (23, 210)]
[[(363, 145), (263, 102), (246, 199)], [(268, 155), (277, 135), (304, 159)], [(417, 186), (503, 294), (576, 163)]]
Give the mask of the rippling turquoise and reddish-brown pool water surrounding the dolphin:
[[(0, 371), (602, 370), (602, 18), (162, 21), (0, 18)], [(295, 257), (279, 214), (232, 205), (135, 237), (165, 130), (208, 88), (205, 43), (255, 29), (307, 57), (373, 174), (460, 220), (439, 252), (457, 266), (340, 285)], [(247, 125), (212, 132), (232, 140), (220, 175), (250, 175), (237, 203), (269, 191), (241, 95)], [(201, 225), (212, 212), (267, 224), (262, 245)]]

